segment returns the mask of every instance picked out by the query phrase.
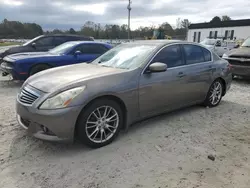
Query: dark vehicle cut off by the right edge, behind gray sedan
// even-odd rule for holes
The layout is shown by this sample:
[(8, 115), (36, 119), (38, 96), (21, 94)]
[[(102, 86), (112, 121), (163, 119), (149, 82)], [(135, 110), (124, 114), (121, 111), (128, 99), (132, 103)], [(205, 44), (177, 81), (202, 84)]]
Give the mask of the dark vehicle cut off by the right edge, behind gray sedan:
[(233, 75), (250, 77), (250, 38), (239, 48), (226, 52), (222, 58), (231, 64)]

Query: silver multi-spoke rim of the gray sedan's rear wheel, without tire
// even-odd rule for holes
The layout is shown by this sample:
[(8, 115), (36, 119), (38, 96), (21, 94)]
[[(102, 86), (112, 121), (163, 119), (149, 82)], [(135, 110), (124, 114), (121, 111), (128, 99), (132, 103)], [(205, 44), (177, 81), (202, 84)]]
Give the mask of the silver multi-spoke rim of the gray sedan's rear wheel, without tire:
[(213, 83), (210, 90), (209, 100), (212, 105), (217, 105), (222, 97), (222, 85), (219, 81)]

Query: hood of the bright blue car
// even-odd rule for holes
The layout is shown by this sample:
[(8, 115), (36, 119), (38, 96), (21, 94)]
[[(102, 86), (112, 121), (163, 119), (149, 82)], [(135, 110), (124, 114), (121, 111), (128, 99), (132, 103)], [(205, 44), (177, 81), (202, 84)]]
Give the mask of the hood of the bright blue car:
[(41, 58), (41, 57), (58, 57), (57, 54), (51, 54), (49, 52), (25, 52), (25, 53), (17, 53), (9, 55), (8, 58), (16, 61), (22, 59), (33, 59), (33, 58)]

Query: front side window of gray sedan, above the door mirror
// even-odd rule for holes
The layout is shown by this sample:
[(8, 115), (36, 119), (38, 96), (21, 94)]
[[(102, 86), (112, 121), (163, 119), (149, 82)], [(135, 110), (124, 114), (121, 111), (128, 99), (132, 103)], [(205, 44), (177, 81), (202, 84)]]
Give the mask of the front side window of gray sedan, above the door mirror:
[(184, 65), (180, 45), (171, 45), (162, 49), (153, 59), (152, 63), (161, 62), (168, 68)]

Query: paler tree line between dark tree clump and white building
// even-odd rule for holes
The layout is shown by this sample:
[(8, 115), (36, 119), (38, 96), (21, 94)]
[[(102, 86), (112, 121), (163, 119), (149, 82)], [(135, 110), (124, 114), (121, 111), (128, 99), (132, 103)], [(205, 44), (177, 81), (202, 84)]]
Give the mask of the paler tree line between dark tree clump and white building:
[[(149, 27), (139, 27), (131, 31), (132, 39), (143, 39), (152, 38), (154, 31), (158, 30), (164, 32), (165, 35), (178, 36), (185, 38), (188, 26), (190, 22), (185, 20), (179, 20), (180, 27), (173, 28), (169, 23), (164, 22), (159, 26), (149, 26)], [(79, 31), (75, 31), (70, 28), (67, 31), (62, 31), (59, 29), (54, 29), (53, 31), (46, 31), (45, 34), (79, 34), (92, 36), (95, 39), (127, 39), (128, 38), (128, 25), (117, 25), (117, 24), (106, 24), (101, 25), (100, 23), (94, 23), (92, 21), (87, 21)]]

